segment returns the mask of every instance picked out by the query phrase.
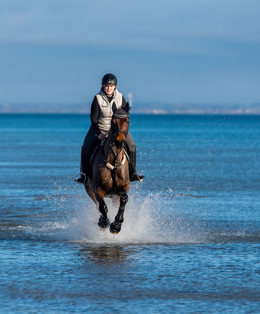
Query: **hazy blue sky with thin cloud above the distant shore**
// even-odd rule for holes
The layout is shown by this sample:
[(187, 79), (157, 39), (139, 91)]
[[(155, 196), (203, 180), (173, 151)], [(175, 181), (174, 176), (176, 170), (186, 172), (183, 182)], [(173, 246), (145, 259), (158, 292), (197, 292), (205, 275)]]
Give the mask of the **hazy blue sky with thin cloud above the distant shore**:
[(0, 0), (0, 103), (260, 101), (257, 0)]

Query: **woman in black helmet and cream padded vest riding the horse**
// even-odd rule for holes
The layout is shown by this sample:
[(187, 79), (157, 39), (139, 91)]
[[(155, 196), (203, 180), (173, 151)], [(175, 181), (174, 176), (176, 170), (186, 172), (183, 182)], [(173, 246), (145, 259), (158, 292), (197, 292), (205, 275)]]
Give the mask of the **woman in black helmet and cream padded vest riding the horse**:
[[(84, 139), (81, 147), (80, 156), (80, 177), (75, 181), (79, 184), (84, 184), (87, 181), (90, 168), (90, 152), (98, 140), (105, 140), (105, 135), (109, 132), (111, 117), (113, 114), (112, 104), (115, 102), (117, 108), (124, 108), (126, 100), (121, 93), (116, 89), (117, 78), (114, 74), (105, 74), (102, 78), (102, 87), (100, 92), (95, 95), (90, 111), (91, 126)], [(127, 152), (129, 159), (129, 179), (133, 181), (141, 181), (144, 176), (138, 176), (136, 173), (136, 145), (131, 134), (128, 132), (126, 138)]]

